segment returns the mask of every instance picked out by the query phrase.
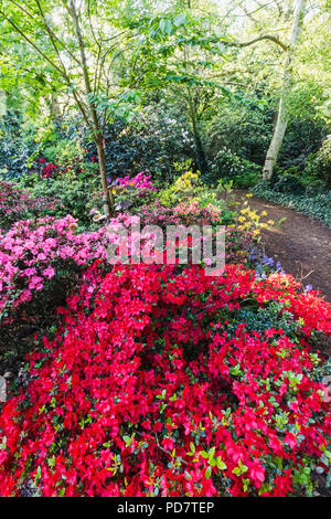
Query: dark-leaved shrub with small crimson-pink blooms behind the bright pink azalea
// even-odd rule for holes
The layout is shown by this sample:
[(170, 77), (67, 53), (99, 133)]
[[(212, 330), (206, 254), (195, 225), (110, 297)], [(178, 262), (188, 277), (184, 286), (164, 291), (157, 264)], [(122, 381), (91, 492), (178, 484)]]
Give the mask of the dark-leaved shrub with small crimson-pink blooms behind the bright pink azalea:
[(8, 226), (18, 220), (42, 214), (52, 214), (62, 209), (51, 197), (33, 197), (14, 182), (0, 180), (0, 226)]

